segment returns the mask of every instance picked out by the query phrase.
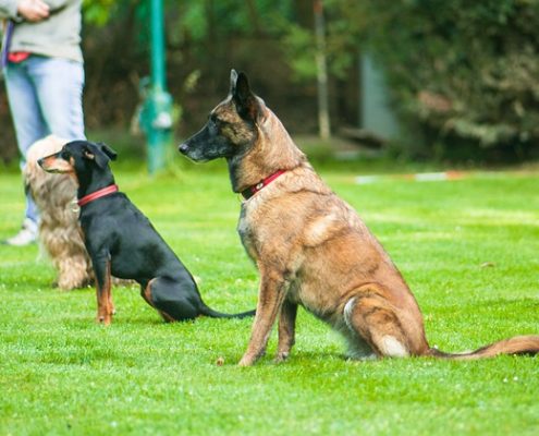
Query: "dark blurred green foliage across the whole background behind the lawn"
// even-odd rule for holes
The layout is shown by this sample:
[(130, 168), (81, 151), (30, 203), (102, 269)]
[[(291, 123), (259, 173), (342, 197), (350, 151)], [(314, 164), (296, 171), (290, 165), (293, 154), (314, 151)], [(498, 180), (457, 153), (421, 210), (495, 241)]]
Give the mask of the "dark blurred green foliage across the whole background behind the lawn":
[[(315, 133), (313, 0), (166, 0), (168, 83), (179, 134), (197, 129), (226, 92), (230, 68), (293, 133)], [(334, 131), (357, 126), (358, 59), (385, 71), (408, 155), (537, 154), (539, 0), (326, 0)], [(126, 130), (148, 74), (144, 0), (84, 2), (85, 113), (90, 130)], [(4, 159), (15, 153), (0, 90)], [(406, 133), (408, 135), (406, 136)]]

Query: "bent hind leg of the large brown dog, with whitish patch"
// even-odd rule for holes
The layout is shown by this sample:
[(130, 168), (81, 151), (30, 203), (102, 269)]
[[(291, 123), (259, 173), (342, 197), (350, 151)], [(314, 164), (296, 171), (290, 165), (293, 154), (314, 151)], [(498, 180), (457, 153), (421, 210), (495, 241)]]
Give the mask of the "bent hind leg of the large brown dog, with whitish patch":
[(379, 358), (411, 355), (405, 329), (395, 307), (378, 293), (368, 290), (352, 298), (344, 310), (345, 322)]

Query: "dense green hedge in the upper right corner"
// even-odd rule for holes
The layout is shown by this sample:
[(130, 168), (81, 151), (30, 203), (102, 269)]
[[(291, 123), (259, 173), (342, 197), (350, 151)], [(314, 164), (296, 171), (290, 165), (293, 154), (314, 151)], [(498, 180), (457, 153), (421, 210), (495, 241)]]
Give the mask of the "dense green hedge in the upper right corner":
[(539, 1), (367, 0), (403, 116), (479, 147), (537, 147)]

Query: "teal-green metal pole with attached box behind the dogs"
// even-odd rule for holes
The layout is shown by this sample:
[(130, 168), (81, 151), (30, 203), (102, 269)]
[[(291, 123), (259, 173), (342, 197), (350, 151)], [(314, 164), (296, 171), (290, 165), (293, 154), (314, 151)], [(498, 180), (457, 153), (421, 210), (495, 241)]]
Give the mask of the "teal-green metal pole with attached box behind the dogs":
[(172, 97), (167, 93), (164, 59), (164, 17), (162, 0), (150, 1), (151, 77), (142, 114), (148, 142), (148, 171), (164, 168), (167, 146), (172, 138)]

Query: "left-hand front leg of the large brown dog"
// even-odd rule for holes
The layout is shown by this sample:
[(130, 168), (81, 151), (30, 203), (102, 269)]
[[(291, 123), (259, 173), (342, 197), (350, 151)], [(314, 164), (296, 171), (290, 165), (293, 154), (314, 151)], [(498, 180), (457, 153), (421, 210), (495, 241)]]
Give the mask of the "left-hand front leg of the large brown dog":
[(240, 366), (249, 366), (266, 351), (271, 327), (285, 298), (285, 286), (279, 272), (265, 274), (260, 270), (260, 292), (256, 308), (255, 322), (247, 351), (240, 361)]

